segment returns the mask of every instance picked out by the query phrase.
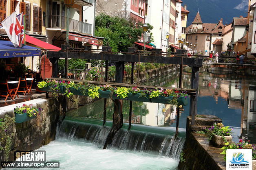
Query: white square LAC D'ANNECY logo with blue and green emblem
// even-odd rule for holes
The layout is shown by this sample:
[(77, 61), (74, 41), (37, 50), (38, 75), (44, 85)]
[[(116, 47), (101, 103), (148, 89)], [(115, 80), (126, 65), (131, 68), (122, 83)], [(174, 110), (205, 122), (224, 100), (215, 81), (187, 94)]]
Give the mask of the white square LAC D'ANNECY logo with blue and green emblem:
[(227, 170), (252, 170), (252, 149), (227, 149)]

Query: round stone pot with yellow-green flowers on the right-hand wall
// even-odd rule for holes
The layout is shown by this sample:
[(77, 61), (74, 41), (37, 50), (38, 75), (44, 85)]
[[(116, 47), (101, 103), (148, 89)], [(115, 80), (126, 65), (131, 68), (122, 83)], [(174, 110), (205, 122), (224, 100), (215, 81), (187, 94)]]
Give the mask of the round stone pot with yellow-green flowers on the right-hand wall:
[(212, 127), (206, 129), (206, 131), (205, 135), (214, 147), (221, 148), (225, 146), (226, 142), (232, 141), (231, 131), (233, 131), (233, 129), (230, 129), (229, 126), (223, 126), (222, 123), (214, 123)]

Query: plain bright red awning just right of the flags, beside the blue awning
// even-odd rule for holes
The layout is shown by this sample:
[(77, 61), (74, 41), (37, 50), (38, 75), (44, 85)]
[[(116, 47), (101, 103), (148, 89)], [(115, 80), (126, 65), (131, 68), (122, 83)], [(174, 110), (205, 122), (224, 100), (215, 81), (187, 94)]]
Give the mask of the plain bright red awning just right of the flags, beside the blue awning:
[(59, 51), (61, 49), (59, 47), (53, 46), (52, 44), (48, 44), (29, 35), (26, 35), (26, 42), (51, 51)]

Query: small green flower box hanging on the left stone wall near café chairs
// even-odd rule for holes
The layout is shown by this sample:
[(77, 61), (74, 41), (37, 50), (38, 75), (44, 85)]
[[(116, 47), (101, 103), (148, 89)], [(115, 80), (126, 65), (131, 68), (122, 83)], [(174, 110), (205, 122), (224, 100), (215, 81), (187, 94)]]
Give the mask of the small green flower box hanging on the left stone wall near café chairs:
[(23, 104), (22, 107), (17, 106), (14, 108), (15, 123), (22, 123), (31, 120), (35, 117), (40, 118), (41, 108), (36, 108), (32, 104)]

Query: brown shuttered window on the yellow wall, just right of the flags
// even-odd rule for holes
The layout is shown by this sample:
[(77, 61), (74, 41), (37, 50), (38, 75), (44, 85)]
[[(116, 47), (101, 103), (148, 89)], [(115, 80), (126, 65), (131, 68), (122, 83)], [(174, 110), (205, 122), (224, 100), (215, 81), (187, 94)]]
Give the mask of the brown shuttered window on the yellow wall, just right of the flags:
[(42, 7), (33, 6), (33, 31), (42, 33)]

